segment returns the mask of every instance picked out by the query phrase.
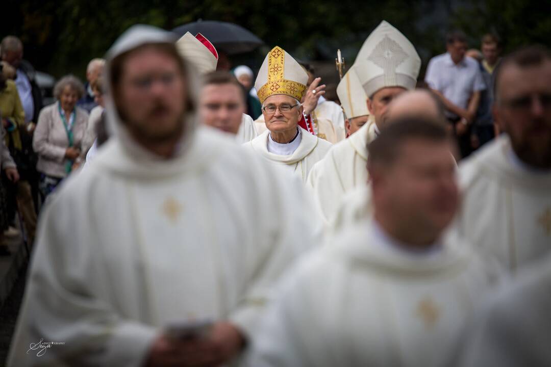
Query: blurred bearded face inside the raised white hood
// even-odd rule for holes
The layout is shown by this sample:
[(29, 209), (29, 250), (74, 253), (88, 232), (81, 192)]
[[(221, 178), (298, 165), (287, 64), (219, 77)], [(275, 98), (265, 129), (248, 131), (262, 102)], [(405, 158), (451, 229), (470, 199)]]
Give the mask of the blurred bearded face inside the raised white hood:
[(134, 135), (151, 141), (174, 139), (183, 129), (187, 90), (170, 54), (154, 47), (132, 51), (123, 64), (116, 105)]

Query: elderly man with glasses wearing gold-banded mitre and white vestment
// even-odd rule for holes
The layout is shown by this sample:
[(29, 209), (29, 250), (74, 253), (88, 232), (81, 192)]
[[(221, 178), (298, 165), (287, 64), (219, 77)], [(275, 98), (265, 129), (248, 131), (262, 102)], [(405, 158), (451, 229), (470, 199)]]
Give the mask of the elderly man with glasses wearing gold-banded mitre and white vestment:
[(244, 144), (302, 182), (331, 147), (328, 141), (299, 126), (304, 111), (300, 100), (307, 80), (304, 69), (282, 48), (276, 46), (267, 54), (255, 82), (267, 130)]

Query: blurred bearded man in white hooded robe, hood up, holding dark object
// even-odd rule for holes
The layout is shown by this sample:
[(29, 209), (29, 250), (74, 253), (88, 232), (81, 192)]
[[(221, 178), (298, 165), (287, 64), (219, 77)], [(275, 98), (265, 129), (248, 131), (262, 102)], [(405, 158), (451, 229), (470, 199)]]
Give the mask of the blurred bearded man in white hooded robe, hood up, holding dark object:
[(172, 37), (137, 25), (107, 53), (114, 134), (45, 208), (9, 366), (229, 363), (312, 243), (300, 182), (200, 127)]

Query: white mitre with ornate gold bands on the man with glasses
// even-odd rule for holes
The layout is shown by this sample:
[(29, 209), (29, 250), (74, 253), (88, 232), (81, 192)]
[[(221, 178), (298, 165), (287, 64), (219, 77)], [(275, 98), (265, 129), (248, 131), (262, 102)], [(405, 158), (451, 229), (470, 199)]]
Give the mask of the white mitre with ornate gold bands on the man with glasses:
[(306, 91), (308, 74), (283, 48), (276, 46), (268, 52), (255, 81), (260, 103), (269, 96), (285, 94), (302, 99)]

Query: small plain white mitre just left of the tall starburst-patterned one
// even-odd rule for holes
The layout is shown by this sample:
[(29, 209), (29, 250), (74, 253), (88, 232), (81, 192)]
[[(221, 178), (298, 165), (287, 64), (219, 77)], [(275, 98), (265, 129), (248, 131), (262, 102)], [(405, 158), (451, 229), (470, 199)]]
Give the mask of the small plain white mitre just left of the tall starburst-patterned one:
[(356, 65), (352, 65), (344, 74), (341, 83), (337, 86), (337, 95), (346, 118), (369, 116), (368, 96), (361, 86), (360, 78), (356, 73)]

